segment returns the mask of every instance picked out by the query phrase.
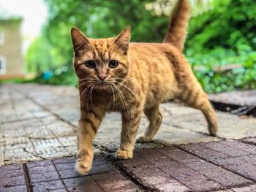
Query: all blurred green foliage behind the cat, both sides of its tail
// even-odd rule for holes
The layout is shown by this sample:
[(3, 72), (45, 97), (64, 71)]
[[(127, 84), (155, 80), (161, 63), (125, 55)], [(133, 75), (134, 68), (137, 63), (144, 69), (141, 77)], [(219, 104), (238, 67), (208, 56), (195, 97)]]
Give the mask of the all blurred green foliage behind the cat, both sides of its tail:
[[(40, 74), (36, 82), (75, 85), (72, 26), (92, 38), (113, 37), (131, 26), (133, 42), (162, 42), (167, 29), (167, 16), (145, 9), (153, 0), (45, 1), (50, 9), (48, 24), (26, 56), (29, 71)], [(252, 0), (214, 0), (212, 9), (190, 20), (185, 54), (193, 69), (204, 66), (195, 74), (208, 93), (256, 88), (255, 15)], [(214, 70), (227, 64), (241, 64), (241, 69)], [(45, 80), (42, 74), (49, 70), (53, 76)]]

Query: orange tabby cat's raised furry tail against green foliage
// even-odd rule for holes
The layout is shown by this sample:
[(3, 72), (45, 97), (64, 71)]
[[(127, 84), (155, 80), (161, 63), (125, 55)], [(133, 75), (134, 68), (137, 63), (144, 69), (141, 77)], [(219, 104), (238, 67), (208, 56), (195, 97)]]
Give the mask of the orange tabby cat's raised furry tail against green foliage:
[(184, 49), (184, 43), (187, 38), (189, 13), (189, 1), (178, 0), (176, 10), (170, 15), (170, 23), (164, 43), (171, 43), (180, 51)]

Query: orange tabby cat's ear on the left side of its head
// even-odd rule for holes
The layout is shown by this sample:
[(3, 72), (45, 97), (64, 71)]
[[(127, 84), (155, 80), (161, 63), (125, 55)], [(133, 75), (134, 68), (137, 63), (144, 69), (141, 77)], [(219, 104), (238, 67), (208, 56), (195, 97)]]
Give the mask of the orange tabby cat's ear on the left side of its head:
[(71, 29), (71, 38), (73, 42), (73, 47), (75, 53), (78, 52), (82, 47), (89, 47), (89, 39), (86, 37), (81, 31), (79, 31), (77, 28)]

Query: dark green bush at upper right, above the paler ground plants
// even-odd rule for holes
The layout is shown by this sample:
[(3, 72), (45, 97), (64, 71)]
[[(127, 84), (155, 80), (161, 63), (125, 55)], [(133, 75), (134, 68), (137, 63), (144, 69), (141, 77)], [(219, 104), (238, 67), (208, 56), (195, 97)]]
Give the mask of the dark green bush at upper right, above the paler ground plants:
[(190, 21), (187, 47), (195, 52), (215, 47), (236, 53), (255, 50), (255, 15), (252, 0), (215, 0), (214, 9)]

